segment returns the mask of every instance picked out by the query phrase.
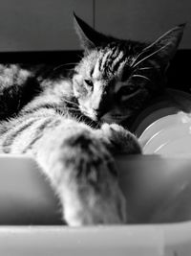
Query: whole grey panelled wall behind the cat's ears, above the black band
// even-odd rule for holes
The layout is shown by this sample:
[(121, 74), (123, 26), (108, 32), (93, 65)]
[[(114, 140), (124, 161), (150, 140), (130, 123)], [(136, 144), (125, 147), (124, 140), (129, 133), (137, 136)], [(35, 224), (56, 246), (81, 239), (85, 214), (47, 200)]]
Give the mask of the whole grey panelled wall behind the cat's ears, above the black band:
[(191, 48), (190, 0), (1, 0), (0, 52), (79, 49), (73, 12), (105, 34), (149, 41), (186, 21), (180, 48)]

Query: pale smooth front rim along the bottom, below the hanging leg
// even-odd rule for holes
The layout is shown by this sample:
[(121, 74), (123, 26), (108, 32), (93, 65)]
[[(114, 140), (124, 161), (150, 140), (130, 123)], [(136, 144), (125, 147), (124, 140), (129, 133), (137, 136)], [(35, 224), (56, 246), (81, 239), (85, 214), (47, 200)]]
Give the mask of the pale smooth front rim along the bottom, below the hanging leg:
[(2, 226), (0, 255), (185, 256), (191, 252), (191, 222), (100, 226)]

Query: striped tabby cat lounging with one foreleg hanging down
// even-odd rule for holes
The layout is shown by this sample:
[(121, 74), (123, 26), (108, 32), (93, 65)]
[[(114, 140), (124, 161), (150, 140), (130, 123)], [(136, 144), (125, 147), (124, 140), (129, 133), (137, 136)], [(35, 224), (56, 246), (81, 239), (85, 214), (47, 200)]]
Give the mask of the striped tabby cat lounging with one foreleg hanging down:
[(75, 14), (74, 27), (84, 56), (70, 77), (0, 66), (0, 151), (35, 159), (68, 225), (128, 223), (114, 159), (141, 153), (128, 122), (162, 92), (184, 25), (153, 43), (102, 35)]

